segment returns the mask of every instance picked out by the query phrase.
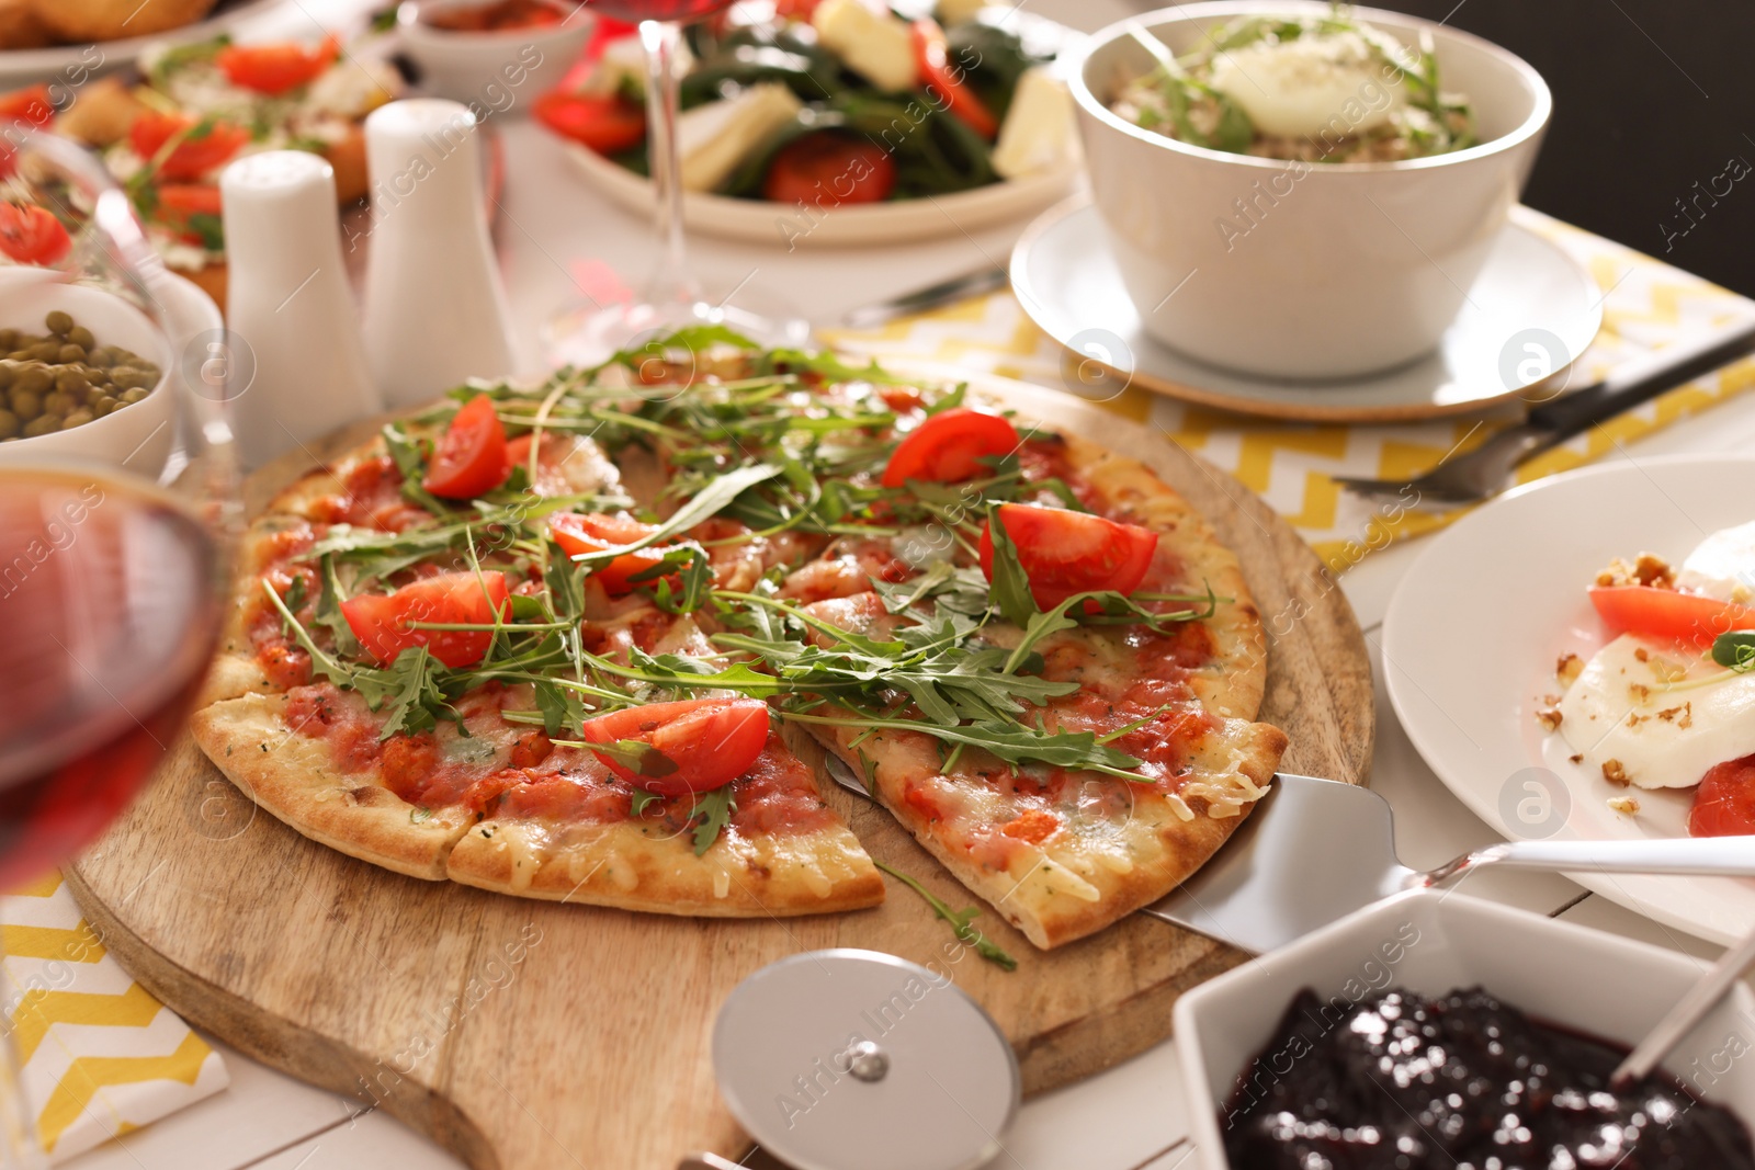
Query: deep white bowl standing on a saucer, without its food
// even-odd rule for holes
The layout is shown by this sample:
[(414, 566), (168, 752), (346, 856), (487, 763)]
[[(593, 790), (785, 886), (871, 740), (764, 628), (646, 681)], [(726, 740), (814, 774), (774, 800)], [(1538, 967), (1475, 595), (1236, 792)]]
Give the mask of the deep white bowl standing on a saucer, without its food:
[[(1237, 16), (1325, 12), (1311, 0), (1225, 0), (1137, 25), (1183, 54)], [(1479, 146), (1400, 163), (1190, 146), (1107, 107), (1121, 77), (1153, 67), (1127, 32), (1135, 21), (1086, 44), (1072, 96), (1092, 191), (1144, 328), (1167, 346), (1248, 374), (1350, 377), (1430, 353), (1462, 307), (1536, 161), (1548, 86), (1479, 37), (1379, 9), (1353, 14), (1404, 44), (1430, 33), (1441, 84), (1471, 100)]]

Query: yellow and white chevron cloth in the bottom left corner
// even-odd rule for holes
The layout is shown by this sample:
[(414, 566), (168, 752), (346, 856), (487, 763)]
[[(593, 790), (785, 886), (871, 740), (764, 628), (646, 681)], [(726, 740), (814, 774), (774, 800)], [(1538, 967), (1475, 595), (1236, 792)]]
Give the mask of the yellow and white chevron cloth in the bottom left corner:
[(105, 952), (60, 874), (0, 898), (0, 970), (51, 1163), (230, 1082), (219, 1052)]

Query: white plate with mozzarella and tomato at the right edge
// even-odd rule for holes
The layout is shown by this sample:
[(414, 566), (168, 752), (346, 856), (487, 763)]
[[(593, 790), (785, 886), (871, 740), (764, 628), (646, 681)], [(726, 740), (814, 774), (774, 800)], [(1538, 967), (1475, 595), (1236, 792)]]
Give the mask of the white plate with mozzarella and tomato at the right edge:
[[(1694, 789), (1616, 789), (1536, 723), (1553, 667), (1609, 640), (1585, 588), (1615, 556), (1680, 561), (1755, 516), (1755, 460), (1629, 460), (1511, 491), (1439, 533), (1383, 619), (1383, 681), (1415, 747), (1511, 838), (1685, 837)], [(1608, 798), (1632, 795), (1639, 816)], [(1755, 842), (1751, 842), (1755, 847)], [(1569, 874), (1658, 923), (1720, 944), (1755, 928), (1755, 881)]]

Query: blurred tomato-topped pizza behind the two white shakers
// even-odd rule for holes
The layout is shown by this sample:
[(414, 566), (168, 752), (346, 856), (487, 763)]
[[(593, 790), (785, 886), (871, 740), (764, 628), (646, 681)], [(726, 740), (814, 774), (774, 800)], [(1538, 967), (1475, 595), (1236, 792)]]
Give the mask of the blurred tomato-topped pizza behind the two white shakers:
[[(98, 147), (165, 263), (226, 303), (219, 172), (242, 154), (312, 151), (335, 168), (340, 205), (367, 195), (365, 116), (400, 96), (390, 61), (319, 44), (214, 37), (140, 56), (144, 81), (88, 82), (54, 128)], [(37, 86), (42, 100), (47, 86)], [(19, 91), (23, 100), (33, 91)]]

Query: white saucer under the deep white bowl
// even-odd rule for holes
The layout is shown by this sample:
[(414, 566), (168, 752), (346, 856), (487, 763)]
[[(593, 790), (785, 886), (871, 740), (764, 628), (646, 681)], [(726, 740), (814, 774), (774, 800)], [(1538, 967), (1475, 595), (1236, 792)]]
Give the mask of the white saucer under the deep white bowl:
[[(1102, 218), (1083, 196), (1048, 210), (1023, 233), (1011, 253), (1011, 288), (1044, 333), (1146, 389), (1220, 410), (1323, 423), (1483, 410), (1557, 377), (1602, 325), (1602, 296), (1590, 274), (1515, 219), (1499, 233), (1439, 351), (1369, 379), (1250, 377), (1181, 356), (1141, 326)], [(1522, 349), (1529, 339), (1518, 337), (1529, 330), (1558, 339), (1560, 360), (1530, 363)], [(1522, 361), (1506, 361), (1508, 351)]]

